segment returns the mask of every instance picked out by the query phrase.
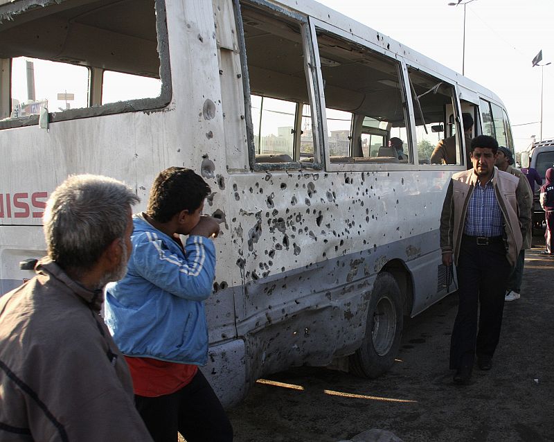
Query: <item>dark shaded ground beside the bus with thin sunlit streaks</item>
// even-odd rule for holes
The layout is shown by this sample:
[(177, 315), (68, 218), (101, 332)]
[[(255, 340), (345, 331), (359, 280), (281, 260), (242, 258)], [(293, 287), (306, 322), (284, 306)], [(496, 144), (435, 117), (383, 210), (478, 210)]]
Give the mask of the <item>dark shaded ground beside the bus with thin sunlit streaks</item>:
[(237, 442), (340, 441), (379, 428), (403, 441), (553, 441), (554, 258), (526, 252), (521, 299), (506, 303), (491, 371), (452, 383), (456, 294), (404, 323), (391, 371), (377, 380), (300, 367), (267, 376), (228, 411)]

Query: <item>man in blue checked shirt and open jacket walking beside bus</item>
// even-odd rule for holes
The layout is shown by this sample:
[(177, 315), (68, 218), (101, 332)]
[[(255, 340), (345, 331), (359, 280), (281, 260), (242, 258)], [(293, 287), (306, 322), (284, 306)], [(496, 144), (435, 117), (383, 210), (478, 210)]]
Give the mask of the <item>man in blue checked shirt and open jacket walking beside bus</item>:
[(450, 342), (456, 384), (470, 382), (475, 357), (479, 369), (492, 367), (506, 284), (521, 250), (519, 226), (529, 217), (519, 210), (525, 204), (519, 179), (494, 167), (497, 150), (491, 136), (472, 139), (473, 168), (452, 176), (440, 216), (443, 264), (454, 263), (458, 274), (458, 315)]

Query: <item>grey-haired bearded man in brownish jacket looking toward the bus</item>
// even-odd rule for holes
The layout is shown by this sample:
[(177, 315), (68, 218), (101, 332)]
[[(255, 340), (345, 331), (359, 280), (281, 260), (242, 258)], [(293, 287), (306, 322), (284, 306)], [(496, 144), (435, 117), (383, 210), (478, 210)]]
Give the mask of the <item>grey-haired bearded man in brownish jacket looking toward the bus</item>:
[(152, 440), (99, 315), (105, 284), (125, 275), (137, 202), (125, 184), (95, 175), (52, 193), (48, 256), (0, 298), (0, 440)]

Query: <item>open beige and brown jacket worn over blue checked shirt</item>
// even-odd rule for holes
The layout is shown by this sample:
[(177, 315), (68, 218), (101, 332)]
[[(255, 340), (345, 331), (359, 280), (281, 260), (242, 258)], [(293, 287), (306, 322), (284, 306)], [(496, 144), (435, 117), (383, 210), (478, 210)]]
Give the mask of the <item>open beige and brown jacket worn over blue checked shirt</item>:
[[(473, 169), (452, 175), (443, 203), (443, 213), (440, 215), (440, 249), (443, 254), (453, 253), (456, 265), (460, 255), (467, 204), (470, 202), (476, 182), (477, 175)], [(527, 218), (530, 215), (518, 209), (519, 204), (524, 204), (525, 195), (519, 188), (519, 178), (502, 172), (497, 167), (494, 167), (492, 185), (504, 218), (506, 258), (512, 267), (515, 267), (522, 245), (520, 226), (528, 222)]]

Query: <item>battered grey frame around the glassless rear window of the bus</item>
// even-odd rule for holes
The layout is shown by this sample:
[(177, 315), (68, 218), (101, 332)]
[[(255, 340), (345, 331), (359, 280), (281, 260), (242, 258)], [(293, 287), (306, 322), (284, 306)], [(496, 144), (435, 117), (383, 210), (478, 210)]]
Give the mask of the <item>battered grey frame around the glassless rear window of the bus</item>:
[[(55, 4), (55, 2), (52, 2)], [(18, 15), (24, 15), (27, 11), (23, 8)], [(89, 70), (89, 94), (87, 96), (87, 107), (76, 109), (66, 109), (62, 112), (48, 112), (48, 123), (57, 123), (58, 121), (76, 120), (79, 118), (90, 118), (94, 116), (104, 116), (112, 114), (123, 114), (126, 112), (162, 112), (163, 109), (172, 100), (172, 78), (171, 78), (171, 61), (170, 51), (168, 46), (168, 27), (166, 17), (166, 0), (154, 0), (154, 15), (156, 16), (156, 33), (157, 33), (157, 48), (160, 60), (159, 78), (161, 81), (160, 95), (152, 98), (137, 98), (133, 100), (120, 101), (117, 103), (107, 103), (105, 105), (96, 105), (93, 94), (98, 94), (95, 88), (91, 87), (93, 75), (98, 69), (94, 67), (84, 66)], [(11, 81), (11, 60), (10, 59), (10, 81)], [(52, 60), (55, 61), (55, 60)], [(101, 69), (103, 71), (103, 69)], [(98, 74), (97, 74), (98, 75)], [(97, 89), (97, 88), (96, 88)], [(11, 88), (9, 101), (11, 103)], [(11, 105), (10, 105), (11, 108)], [(12, 129), (15, 127), (26, 127), (38, 125), (39, 115), (30, 115), (19, 118), (8, 118), (0, 121), (0, 130)]]

